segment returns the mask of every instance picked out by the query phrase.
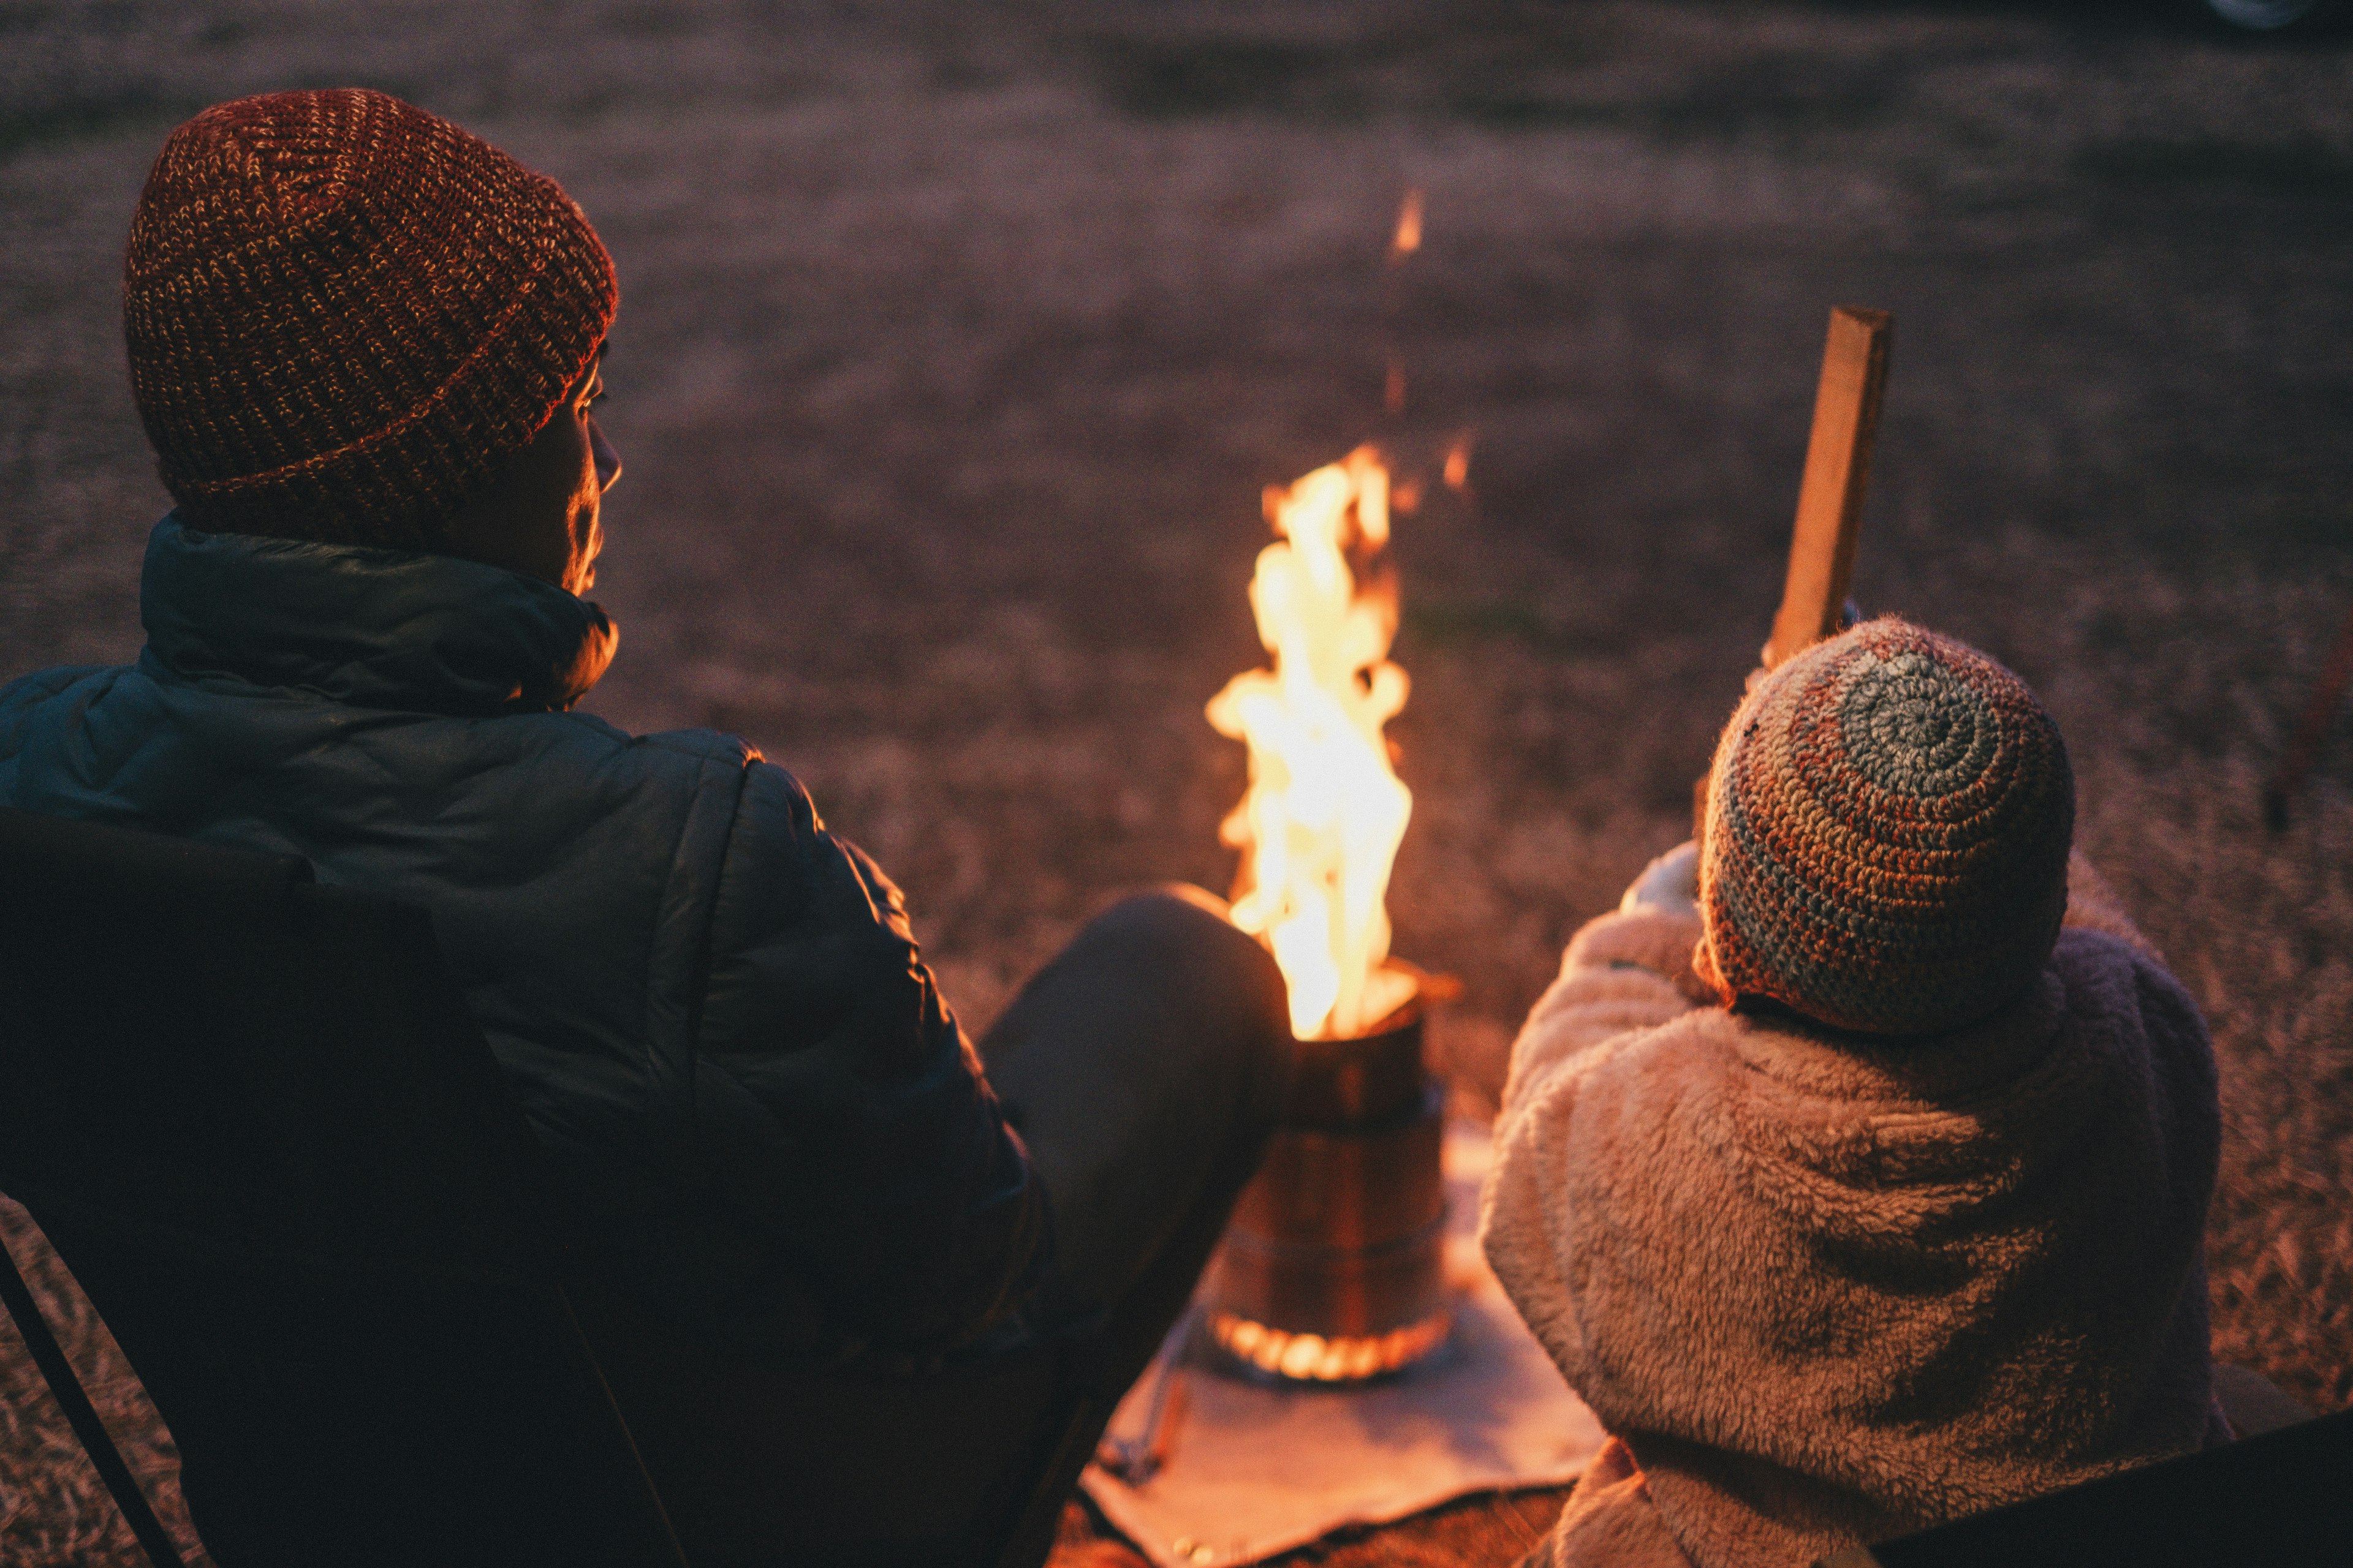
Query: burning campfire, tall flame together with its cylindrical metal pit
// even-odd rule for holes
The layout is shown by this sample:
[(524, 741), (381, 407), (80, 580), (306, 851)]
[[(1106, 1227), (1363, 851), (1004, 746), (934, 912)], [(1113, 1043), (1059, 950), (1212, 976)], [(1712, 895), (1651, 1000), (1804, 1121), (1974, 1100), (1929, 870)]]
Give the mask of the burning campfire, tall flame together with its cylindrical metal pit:
[(1242, 853), (1233, 922), (1289, 985), (1299, 1079), (1242, 1192), (1209, 1335), (1278, 1378), (1346, 1382), (1445, 1342), (1440, 1093), (1421, 1067), (1421, 976), (1388, 957), (1388, 870), (1412, 816), (1388, 719), (1388, 468), (1372, 447), (1266, 491), (1275, 543), (1249, 607), (1273, 668), (1233, 677), (1209, 722), (1249, 748), (1221, 827)]

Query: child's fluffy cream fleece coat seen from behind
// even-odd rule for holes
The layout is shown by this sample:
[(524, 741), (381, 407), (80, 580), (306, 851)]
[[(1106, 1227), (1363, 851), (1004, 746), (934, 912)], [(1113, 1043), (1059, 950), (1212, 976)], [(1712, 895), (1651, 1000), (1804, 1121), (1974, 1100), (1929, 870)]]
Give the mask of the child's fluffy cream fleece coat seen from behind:
[(1529, 1563), (1812, 1563), (2226, 1436), (2214, 1056), (2071, 882), (2040, 980), (1927, 1039), (1713, 1006), (1682, 910), (1579, 931), (1480, 1229), (1619, 1441)]

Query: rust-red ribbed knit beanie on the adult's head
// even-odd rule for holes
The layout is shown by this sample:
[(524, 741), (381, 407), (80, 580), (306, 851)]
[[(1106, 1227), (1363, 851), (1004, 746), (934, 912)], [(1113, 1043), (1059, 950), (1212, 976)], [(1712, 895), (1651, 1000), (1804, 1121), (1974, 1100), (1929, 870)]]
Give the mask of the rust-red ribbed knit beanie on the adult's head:
[(440, 548), (619, 306), (553, 179), (381, 92), (216, 103), (122, 263), (132, 395), (191, 524)]

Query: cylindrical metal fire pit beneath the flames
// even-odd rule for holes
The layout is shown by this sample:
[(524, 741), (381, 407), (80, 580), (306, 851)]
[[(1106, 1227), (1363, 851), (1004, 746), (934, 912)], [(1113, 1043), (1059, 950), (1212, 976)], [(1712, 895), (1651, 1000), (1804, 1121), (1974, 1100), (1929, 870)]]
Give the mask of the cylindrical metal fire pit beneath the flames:
[(1442, 1131), (1419, 994), (1374, 1034), (1299, 1041), (1289, 1110), (1219, 1248), (1209, 1338), (1301, 1382), (1379, 1378), (1445, 1345)]

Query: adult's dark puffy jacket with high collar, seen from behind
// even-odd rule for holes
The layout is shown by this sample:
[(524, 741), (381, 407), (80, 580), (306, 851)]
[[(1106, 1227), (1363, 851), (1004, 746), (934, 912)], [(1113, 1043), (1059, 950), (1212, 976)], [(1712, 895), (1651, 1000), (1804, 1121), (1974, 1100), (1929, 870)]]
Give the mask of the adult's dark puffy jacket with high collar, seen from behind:
[(440, 555), (155, 524), (136, 665), (0, 689), (0, 802), (426, 905), (612, 1267), (809, 1354), (1002, 1321), (1045, 1199), (899, 891), (734, 736), (567, 708), (602, 611)]

